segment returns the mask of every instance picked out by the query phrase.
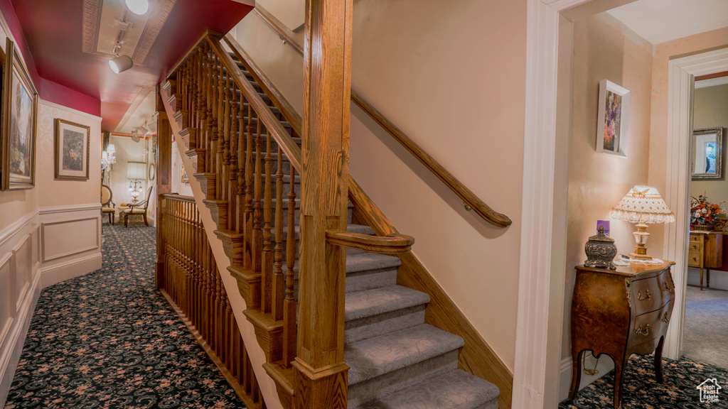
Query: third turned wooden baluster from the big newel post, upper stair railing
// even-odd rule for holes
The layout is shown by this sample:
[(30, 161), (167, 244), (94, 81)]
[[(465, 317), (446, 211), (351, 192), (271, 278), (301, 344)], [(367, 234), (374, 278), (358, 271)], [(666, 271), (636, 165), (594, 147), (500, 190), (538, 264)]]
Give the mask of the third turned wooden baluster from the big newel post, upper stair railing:
[[(260, 118), (258, 118), (260, 120)], [(272, 186), (272, 162), (271, 155), (271, 139), (270, 132), (266, 132), (266, 170), (265, 170), (265, 186), (264, 186), (264, 206), (263, 206), (263, 270), (261, 276), (261, 287), (264, 298), (261, 298), (263, 312), (271, 312), (273, 304), (273, 253), (271, 249), (271, 219), (273, 209), (273, 186)]]

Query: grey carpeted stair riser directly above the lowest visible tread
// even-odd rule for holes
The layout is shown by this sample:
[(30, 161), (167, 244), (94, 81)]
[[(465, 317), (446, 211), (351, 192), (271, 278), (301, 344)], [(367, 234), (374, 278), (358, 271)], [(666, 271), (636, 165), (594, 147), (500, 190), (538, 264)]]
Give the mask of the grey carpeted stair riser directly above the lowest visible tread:
[(348, 409), (457, 369), (457, 350), (385, 373), (359, 384), (349, 385)]

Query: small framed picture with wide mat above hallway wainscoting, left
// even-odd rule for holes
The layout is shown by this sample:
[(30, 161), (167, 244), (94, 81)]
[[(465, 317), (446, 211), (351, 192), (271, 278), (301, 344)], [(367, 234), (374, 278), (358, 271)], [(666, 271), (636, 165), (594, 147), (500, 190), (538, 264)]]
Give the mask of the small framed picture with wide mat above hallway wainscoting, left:
[(55, 119), (56, 180), (88, 180), (91, 127)]

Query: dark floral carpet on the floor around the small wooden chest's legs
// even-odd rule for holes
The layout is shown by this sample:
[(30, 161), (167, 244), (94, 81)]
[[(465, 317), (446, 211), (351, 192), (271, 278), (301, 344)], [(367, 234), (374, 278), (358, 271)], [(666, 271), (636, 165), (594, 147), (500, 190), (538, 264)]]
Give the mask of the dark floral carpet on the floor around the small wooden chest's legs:
[[(654, 379), (652, 355), (633, 355), (625, 370), (622, 384), (623, 409), (718, 409), (728, 408), (728, 370), (683, 358), (662, 359), (665, 383)], [(718, 402), (700, 402), (697, 386), (715, 378), (719, 389)], [(579, 391), (575, 400), (564, 400), (559, 409), (612, 409), (614, 370)]]

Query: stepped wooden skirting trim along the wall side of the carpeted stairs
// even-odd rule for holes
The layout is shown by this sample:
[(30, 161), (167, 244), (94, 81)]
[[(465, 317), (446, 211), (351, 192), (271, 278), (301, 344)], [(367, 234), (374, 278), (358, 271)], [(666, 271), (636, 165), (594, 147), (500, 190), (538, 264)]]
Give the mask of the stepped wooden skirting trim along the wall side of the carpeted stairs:
[[(365, 194), (355, 180), (349, 178), (349, 199), (354, 206), (363, 209), (357, 213), (361, 222), (370, 226), (379, 236), (397, 234), (384, 213)], [(402, 265), (397, 270), (397, 284), (422, 291), (430, 295), (430, 303), (425, 309), (424, 322), (462, 337), (465, 346), (458, 356), (458, 368), (472, 373), (478, 378), (486, 379), (498, 386), (500, 397), (498, 408), (511, 407), (513, 389), (513, 373), (491, 349), (478, 330), (470, 324), (455, 303), (448, 297), (438, 282), (411, 252), (398, 254)]]

